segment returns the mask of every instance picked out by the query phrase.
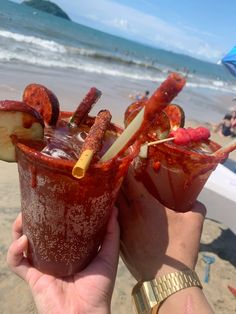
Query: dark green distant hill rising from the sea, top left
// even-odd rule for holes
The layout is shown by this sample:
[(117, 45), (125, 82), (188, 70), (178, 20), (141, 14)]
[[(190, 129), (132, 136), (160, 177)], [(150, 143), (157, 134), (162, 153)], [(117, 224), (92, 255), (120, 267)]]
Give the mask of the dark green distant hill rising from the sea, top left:
[(71, 21), (69, 16), (55, 3), (48, 0), (24, 0), (21, 4), (28, 5), (37, 10), (53, 14), (63, 19)]

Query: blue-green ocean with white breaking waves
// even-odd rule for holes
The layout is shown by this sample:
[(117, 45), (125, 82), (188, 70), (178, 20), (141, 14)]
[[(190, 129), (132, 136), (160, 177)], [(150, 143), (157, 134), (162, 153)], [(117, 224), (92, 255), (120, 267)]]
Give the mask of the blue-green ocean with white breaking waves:
[(0, 0), (1, 63), (73, 69), (146, 81), (147, 86), (179, 71), (188, 78), (183, 102), (191, 100), (190, 118), (200, 120), (206, 113), (220, 118), (230, 107), (221, 103), (222, 97), (236, 93), (235, 79), (222, 65), (144, 46), (8, 0)]

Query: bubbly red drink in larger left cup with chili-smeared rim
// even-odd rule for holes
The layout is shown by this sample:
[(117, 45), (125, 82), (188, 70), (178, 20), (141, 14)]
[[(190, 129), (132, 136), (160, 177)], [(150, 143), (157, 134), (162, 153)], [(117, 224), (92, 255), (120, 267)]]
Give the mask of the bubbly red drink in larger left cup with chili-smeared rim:
[[(92, 122), (87, 119), (83, 128), (88, 129)], [(111, 145), (117, 132), (120, 129), (111, 125), (105, 146)], [(71, 175), (75, 164), (72, 151), (66, 152), (68, 159), (54, 158), (42, 152), (44, 146), (17, 144), (23, 232), (29, 239), (27, 257), (44, 273), (69, 276), (97, 254), (133, 156), (93, 163), (78, 180)], [(105, 146), (103, 150), (108, 148)]]

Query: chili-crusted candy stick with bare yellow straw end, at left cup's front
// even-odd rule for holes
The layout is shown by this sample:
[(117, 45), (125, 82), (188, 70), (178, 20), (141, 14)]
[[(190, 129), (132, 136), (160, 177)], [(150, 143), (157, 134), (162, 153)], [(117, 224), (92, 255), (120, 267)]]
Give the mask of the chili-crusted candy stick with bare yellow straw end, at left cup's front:
[(72, 175), (74, 177), (82, 179), (85, 176), (93, 156), (99, 152), (102, 147), (102, 139), (110, 121), (111, 114), (108, 110), (101, 110), (98, 113), (82, 146), (79, 160), (72, 170)]

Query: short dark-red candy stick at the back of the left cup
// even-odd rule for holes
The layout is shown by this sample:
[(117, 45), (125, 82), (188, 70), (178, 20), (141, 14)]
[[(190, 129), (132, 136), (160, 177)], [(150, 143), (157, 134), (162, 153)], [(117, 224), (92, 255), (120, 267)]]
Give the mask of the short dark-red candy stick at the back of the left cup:
[(95, 87), (90, 88), (87, 95), (81, 101), (77, 109), (75, 110), (73, 116), (71, 117), (68, 126), (78, 127), (80, 123), (87, 117), (90, 110), (93, 108), (94, 104), (101, 97), (102, 92)]

